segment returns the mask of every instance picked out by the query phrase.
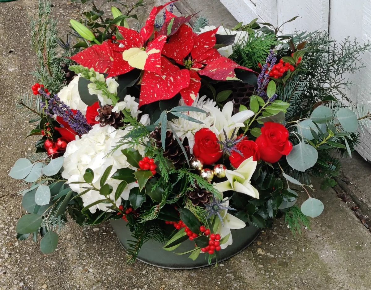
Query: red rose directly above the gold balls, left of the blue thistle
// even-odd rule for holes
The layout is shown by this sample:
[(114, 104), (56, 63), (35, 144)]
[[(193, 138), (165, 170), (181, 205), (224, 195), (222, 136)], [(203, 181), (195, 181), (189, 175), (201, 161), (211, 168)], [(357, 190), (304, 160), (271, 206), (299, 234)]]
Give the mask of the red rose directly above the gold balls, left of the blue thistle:
[(220, 150), (218, 138), (210, 129), (203, 128), (194, 134), (193, 154), (201, 159), (205, 165), (218, 161), (223, 153)]

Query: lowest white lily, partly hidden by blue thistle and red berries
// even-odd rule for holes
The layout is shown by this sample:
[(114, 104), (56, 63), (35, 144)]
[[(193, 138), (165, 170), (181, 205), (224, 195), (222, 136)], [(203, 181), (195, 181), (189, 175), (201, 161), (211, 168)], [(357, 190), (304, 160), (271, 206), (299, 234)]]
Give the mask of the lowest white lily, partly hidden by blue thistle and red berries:
[[(224, 198), (223, 206), (229, 206), (228, 197)], [(220, 234), (221, 239), (228, 236), (229, 234), (228, 240), (220, 245), (221, 249), (225, 249), (233, 243), (231, 229), (242, 229), (246, 227), (246, 224), (242, 220), (228, 213), (228, 210), (226, 209), (220, 211), (220, 216), (223, 220), (223, 223), (219, 224), (217, 233)]]

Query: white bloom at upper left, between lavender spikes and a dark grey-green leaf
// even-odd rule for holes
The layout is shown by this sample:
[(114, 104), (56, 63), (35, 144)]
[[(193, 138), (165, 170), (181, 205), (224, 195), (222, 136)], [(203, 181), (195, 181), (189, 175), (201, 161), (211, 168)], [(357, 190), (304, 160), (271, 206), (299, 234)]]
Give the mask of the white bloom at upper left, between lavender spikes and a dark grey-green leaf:
[(69, 106), (71, 109), (79, 110), (85, 116), (86, 105), (80, 98), (79, 94), (79, 78), (80, 74), (75, 76), (68, 86), (63, 87), (58, 93), (58, 97), (63, 103)]

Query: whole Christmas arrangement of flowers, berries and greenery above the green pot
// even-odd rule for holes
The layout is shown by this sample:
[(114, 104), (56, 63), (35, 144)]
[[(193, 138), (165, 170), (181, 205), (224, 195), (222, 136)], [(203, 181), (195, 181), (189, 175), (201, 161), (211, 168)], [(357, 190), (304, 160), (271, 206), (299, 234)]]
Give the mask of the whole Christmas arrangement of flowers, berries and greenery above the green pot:
[[(198, 17), (193, 29), (196, 16), (175, 16), (174, 1), (133, 29), (142, 1), (126, 14), (112, 7), (108, 19), (88, 2), (66, 41), (47, 2), (33, 24), (33, 46), (49, 62), (40, 59), (42, 84), (19, 99), (34, 115), (30, 136), (41, 138), (9, 173), (31, 184), (18, 239), (40, 234), (51, 253), (67, 214), (82, 226), (122, 219), (129, 262), (150, 239), (171, 251), (194, 241), (189, 257), (211, 261), (239, 239), (231, 230), (284, 215), (300, 232), (321, 214), (310, 175), (331, 186), (332, 152), (351, 155), (357, 129), (369, 126), (368, 109), (346, 103), (341, 77), (361, 67), (369, 44), (338, 48), (325, 33), (278, 35), (256, 20), (229, 30)], [(299, 208), (301, 190), (308, 199)]]

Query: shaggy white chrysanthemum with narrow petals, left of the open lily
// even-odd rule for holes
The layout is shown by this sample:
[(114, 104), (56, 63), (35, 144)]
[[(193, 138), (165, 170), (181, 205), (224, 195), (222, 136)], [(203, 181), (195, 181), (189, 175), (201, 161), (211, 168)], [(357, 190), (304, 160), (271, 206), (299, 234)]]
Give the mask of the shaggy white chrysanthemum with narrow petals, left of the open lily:
[[(179, 105), (184, 106), (183, 99), (180, 100)], [(206, 99), (206, 96), (197, 97), (196, 100), (194, 100), (192, 106), (203, 109), (208, 113), (210, 112), (210, 109), (206, 108), (205, 106), (218, 108), (216, 106), (216, 102), (210, 99)], [(182, 139), (187, 137), (189, 146), (192, 149), (194, 145), (194, 134), (202, 128), (211, 127), (214, 123), (214, 117), (209, 114), (199, 112), (189, 112), (187, 113), (187, 115), (194, 119), (200, 120), (204, 124), (198, 124), (192, 121), (185, 120), (183, 118), (174, 119), (170, 121), (170, 124), (174, 128), (174, 131), (178, 135), (178, 137)]]

